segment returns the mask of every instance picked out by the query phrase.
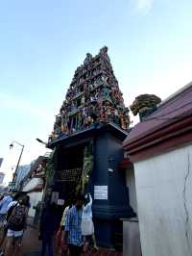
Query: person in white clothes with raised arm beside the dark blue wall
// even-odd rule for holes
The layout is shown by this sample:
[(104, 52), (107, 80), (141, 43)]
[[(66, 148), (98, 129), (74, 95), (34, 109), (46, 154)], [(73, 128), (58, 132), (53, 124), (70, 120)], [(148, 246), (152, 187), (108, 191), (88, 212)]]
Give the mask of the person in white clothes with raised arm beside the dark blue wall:
[(98, 250), (95, 234), (94, 234), (94, 225), (92, 221), (92, 197), (90, 193), (86, 194), (84, 196), (88, 199), (88, 202), (84, 204), (83, 207), (83, 214), (82, 214), (82, 235), (84, 237), (84, 250), (86, 250), (86, 247), (88, 245), (87, 237), (91, 236), (94, 248)]

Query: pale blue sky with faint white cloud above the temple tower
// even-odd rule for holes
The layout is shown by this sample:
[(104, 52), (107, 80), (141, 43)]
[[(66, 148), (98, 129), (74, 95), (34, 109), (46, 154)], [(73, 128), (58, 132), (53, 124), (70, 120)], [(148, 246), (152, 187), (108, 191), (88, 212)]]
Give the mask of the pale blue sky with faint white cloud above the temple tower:
[(192, 81), (190, 0), (8, 0), (0, 3), (0, 170), (12, 180), (47, 149), (65, 92), (85, 54), (104, 45), (127, 106)]

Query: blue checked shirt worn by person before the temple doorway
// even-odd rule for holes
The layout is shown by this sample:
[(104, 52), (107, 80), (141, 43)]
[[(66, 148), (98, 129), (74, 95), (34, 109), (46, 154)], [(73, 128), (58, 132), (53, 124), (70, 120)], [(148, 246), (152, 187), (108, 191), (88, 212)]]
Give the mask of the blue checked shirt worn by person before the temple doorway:
[(66, 215), (65, 219), (65, 231), (68, 231), (68, 243), (76, 246), (82, 246), (82, 210), (77, 210), (76, 206), (73, 206)]

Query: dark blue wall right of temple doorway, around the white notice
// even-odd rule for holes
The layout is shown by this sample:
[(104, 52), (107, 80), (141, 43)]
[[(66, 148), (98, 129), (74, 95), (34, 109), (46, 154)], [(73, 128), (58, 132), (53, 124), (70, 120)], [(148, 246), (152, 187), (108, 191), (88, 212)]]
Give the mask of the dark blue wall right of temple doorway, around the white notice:
[(92, 196), (94, 186), (108, 186), (108, 200), (93, 200), (95, 233), (100, 245), (111, 247), (113, 235), (120, 229), (118, 220), (133, 215), (125, 179), (118, 168), (123, 160), (123, 145), (108, 131), (97, 136), (94, 143), (94, 168), (89, 184)]

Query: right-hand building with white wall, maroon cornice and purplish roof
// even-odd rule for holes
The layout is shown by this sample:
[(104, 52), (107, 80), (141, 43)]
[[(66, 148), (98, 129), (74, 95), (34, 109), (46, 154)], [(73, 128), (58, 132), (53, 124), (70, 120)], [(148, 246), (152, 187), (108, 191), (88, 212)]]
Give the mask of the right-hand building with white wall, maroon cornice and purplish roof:
[(134, 126), (125, 150), (134, 166), (142, 255), (192, 255), (192, 84)]

